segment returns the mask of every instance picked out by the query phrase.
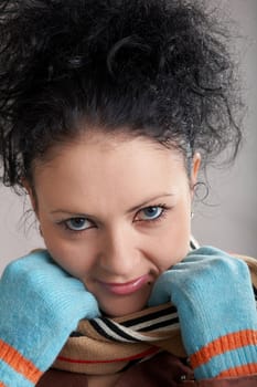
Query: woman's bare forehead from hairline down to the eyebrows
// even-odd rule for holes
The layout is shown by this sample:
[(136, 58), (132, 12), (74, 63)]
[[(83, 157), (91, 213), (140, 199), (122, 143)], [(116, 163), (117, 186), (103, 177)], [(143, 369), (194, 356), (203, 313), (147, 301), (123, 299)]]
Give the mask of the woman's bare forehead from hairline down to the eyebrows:
[(183, 157), (148, 138), (83, 136), (52, 149), (34, 168), (41, 208), (114, 213), (160, 194), (188, 189)]

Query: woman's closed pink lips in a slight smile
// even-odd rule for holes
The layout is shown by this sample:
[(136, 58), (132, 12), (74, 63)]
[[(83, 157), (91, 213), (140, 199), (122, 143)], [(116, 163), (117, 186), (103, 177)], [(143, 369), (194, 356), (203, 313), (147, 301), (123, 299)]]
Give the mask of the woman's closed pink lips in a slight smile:
[(142, 275), (133, 281), (129, 281), (126, 283), (108, 283), (100, 282), (100, 285), (104, 286), (108, 292), (116, 295), (129, 295), (131, 293), (137, 292), (143, 285), (146, 285), (150, 281), (149, 275)]

